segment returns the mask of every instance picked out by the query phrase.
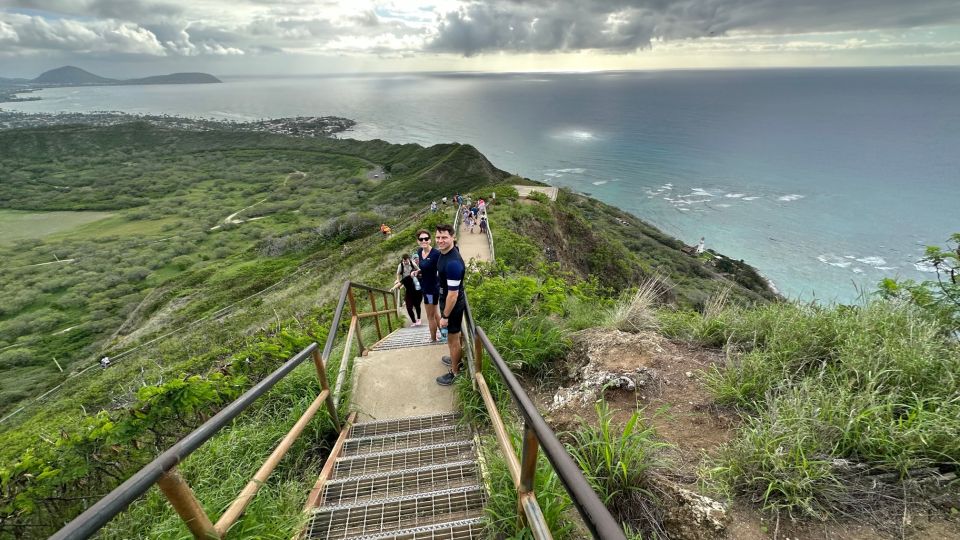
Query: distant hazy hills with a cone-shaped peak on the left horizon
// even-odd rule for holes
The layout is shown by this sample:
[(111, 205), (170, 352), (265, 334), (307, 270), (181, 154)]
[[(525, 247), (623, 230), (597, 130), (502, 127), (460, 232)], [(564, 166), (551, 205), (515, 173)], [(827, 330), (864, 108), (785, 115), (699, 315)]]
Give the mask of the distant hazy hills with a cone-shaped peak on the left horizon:
[(138, 79), (111, 79), (90, 73), (75, 66), (63, 66), (40, 74), (35, 79), (8, 79), (0, 77), (0, 103), (7, 101), (36, 101), (40, 98), (28, 94), (41, 88), (60, 86), (119, 86), (138, 84), (212, 84), (220, 79), (209, 73), (171, 73)]

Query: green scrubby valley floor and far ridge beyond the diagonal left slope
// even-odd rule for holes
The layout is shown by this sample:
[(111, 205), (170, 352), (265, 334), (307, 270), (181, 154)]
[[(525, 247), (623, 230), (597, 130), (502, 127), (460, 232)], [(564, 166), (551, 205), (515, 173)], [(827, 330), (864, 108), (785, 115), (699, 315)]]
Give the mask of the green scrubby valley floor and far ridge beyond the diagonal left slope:
[[(0, 147), (0, 208), (33, 211), (8, 219), (110, 212), (0, 247), (0, 414), (132, 338), (273, 285), (441, 190), (506, 177), (463, 145), (147, 124), (4, 131)], [(372, 174), (381, 167), (388, 174)]]

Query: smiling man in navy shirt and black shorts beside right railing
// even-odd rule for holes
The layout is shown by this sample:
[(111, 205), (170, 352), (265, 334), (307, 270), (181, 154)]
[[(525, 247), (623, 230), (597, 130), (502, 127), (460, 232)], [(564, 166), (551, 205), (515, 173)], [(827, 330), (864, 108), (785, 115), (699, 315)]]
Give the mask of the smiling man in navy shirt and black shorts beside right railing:
[(456, 248), (453, 225), (439, 225), (436, 231), (437, 247), (440, 258), (437, 261), (437, 281), (440, 285), (440, 329), (447, 330), (447, 347), (450, 356), (441, 358), (444, 364), (449, 362), (450, 371), (437, 377), (437, 384), (450, 386), (460, 373), (460, 358), (463, 353), (460, 344), (463, 312), (467, 300), (464, 296), (464, 278), (467, 266)]

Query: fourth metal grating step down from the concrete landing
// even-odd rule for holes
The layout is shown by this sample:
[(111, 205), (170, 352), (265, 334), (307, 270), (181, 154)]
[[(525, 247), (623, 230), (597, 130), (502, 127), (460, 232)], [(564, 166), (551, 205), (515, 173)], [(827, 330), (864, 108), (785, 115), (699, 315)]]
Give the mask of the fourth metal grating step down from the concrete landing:
[(473, 461), (458, 461), (420, 469), (331, 480), (324, 488), (323, 504), (357, 504), (373, 499), (478, 484), (480, 475), (477, 464)]

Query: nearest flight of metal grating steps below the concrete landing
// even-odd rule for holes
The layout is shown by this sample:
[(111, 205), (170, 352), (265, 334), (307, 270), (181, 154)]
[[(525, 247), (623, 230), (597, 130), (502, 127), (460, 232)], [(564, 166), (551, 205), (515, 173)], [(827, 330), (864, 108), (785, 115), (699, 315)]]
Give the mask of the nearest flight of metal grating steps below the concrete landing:
[(482, 537), (486, 491), (455, 414), (355, 424), (305, 538)]

